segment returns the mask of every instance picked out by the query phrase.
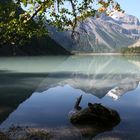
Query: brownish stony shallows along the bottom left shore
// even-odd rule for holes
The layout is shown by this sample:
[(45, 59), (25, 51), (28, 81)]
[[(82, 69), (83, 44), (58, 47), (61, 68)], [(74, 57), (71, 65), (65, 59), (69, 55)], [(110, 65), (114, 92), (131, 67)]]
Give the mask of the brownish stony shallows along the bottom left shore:
[(81, 133), (70, 128), (31, 128), (15, 126), (0, 132), (0, 140), (79, 140)]

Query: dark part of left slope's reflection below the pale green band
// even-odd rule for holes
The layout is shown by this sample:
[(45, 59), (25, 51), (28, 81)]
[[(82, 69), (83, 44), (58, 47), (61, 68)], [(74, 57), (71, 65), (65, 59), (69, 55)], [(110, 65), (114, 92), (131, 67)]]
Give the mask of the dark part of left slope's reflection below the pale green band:
[(28, 99), (46, 74), (0, 71), (0, 123)]

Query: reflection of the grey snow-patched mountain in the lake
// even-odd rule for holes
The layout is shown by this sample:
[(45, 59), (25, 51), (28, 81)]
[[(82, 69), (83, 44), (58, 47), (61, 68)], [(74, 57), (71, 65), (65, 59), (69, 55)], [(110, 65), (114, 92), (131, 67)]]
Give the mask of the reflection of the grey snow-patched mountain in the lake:
[(123, 57), (72, 56), (58, 71), (49, 74), (38, 91), (68, 84), (99, 98), (108, 93), (107, 95), (118, 99), (127, 91), (134, 90), (140, 80), (139, 68)]

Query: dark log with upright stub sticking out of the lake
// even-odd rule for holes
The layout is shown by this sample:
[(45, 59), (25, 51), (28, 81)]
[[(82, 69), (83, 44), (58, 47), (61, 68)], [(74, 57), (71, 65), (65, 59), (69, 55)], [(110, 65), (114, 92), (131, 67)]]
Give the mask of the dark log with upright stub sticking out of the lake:
[(107, 108), (100, 103), (88, 103), (88, 107), (82, 109), (79, 104), (82, 100), (80, 96), (75, 103), (75, 112), (70, 116), (73, 124), (102, 124), (115, 126), (120, 122), (120, 116), (117, 111)]

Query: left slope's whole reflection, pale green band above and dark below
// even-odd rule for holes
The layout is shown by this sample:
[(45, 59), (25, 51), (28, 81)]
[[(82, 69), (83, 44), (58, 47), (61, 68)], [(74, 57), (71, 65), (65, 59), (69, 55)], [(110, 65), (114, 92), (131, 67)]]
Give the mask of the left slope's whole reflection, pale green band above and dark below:
[(38, 84), (67, 56), (1, 57), (0, 123), (29, 98)]

